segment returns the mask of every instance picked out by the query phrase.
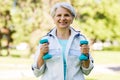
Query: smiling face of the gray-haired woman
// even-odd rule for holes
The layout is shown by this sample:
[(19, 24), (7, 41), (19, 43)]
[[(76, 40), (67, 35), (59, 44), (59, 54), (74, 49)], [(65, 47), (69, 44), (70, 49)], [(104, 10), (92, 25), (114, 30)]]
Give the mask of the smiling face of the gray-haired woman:
[(68, 28), (73, 22), (73, 18), (69, 10), (63, 7), (57, 8), (55, 16), (53, 17), (57, 28)]

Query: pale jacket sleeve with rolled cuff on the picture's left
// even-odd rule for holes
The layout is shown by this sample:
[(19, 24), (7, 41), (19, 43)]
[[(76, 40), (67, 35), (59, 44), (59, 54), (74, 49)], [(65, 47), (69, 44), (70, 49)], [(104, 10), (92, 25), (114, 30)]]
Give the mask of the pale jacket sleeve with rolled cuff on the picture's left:
[(32, 71), (36, 77), (39, 77), (45, 71), (45, 64), (43, 64), (40, 68), (37, 68), (37, 59), (38, 59), (39, 54), (40, 54), (40, 45), (37, 48), (37, 51), (34, 57), (34, 63), (32, 64)]

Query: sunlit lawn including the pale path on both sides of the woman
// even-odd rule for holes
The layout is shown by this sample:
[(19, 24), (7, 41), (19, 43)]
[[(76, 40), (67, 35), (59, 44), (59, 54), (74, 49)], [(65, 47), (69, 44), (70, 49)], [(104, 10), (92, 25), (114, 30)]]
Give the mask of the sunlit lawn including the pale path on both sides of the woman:
[[(95, 66), (86, 80), (120, 80), (120, 52), (95, 51), (92, 56)], [(38, 80), (32, 63), (33, 58), (0, 57), (0, 80)]]

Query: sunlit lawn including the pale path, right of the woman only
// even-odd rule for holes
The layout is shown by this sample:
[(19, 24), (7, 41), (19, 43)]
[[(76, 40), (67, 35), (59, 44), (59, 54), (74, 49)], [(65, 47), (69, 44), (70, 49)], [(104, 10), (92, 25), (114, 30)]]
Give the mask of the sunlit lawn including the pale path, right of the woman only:
[(93, 69), (87, 80), (120, 80), (120, 52), (95, 51), (92, 56), (95, 68), (101, 66)]

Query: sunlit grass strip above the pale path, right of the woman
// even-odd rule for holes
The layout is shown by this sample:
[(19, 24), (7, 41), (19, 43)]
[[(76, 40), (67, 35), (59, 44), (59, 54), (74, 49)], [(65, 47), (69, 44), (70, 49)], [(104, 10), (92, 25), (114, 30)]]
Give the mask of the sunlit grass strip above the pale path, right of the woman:
[(95, 64), (120, 64), (120, 51), (92, 52)]

